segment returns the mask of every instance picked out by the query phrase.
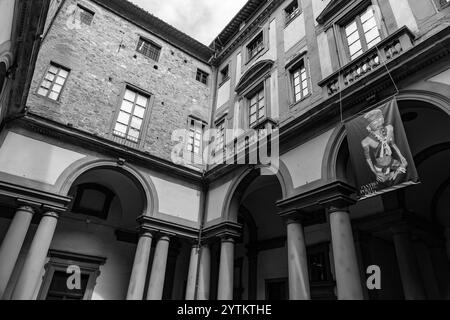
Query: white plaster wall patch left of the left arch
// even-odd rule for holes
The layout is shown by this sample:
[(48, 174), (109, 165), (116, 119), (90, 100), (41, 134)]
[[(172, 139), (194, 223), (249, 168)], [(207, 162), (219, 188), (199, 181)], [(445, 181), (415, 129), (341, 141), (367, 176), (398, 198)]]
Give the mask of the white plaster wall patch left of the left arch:
[(8, 132), (0, 148), (0, 171), (54, 185), (58, 177), (85, 155)]

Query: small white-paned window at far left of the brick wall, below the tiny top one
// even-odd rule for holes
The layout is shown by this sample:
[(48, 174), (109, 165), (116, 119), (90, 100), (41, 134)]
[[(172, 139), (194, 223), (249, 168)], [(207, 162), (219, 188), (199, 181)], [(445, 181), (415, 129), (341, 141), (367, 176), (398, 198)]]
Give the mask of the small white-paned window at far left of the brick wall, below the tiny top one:
[(38, 89), (38, 94), (57, 101), (69, 76), (69, 69), (51, 63)]

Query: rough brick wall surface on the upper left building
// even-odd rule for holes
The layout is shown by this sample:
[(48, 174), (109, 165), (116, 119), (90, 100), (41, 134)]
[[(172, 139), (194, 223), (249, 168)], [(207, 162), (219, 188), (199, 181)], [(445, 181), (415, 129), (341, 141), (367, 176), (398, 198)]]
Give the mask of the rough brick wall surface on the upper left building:
[[(90, 26), (74, 28), (77, 3), (95, 12)], [(139, 36), (161, 45), (158, 62), (136, 52)], [(58, 102), (37, 94), (51, 61), (71, 70)], [(211, 74), (208, 65), (120, 16), (92, 2), (68, 0), (43, 40), (27, 106), (32, 113), (112, 138), (125, 84), (132, 84), (154, 97), (143, 150), (170, 160), (172, 132), (186, 128), (189, 115), (209, 122), (211, 90), (195, 79), (198, 67)]]

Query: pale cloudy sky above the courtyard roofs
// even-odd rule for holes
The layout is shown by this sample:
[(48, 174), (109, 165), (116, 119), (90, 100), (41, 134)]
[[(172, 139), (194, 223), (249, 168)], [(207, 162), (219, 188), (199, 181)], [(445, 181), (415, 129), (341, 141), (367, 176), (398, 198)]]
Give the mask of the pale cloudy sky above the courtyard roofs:
[(247, 0), (129, 0), (209, 45)]

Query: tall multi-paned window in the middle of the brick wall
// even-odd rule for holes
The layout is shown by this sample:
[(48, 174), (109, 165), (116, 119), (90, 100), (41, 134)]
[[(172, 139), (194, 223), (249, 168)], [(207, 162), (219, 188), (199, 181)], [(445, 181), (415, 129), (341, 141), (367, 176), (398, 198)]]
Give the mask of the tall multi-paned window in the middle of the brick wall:
[(127, 87), (114, 127), (115, 136), (133, 143), (139, 142), (149, 100), (149, 96)]

